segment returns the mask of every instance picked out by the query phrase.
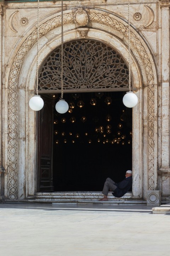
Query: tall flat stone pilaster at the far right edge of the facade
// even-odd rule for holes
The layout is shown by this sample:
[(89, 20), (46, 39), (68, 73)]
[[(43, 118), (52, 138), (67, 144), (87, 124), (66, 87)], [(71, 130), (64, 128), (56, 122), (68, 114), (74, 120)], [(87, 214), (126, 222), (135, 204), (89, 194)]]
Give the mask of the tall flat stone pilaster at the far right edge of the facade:
[(169, 123), (169, 7), (170, 0), (161, 0), (162, 9), (162, 166), (159, 174), (159, 187), (163, 196), (170, 196), (170, 123)]

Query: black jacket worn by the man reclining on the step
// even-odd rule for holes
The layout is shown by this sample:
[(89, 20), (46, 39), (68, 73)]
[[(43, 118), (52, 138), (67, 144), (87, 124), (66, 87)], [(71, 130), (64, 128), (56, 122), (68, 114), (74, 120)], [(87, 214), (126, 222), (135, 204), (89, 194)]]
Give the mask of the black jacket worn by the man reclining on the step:
[(132, 186), (132, 176), (125, 178), (123, 181), (115, 183), (114, 185), (116, 185), (117, 188), (113, 191), (113, 196), (122, 197)]

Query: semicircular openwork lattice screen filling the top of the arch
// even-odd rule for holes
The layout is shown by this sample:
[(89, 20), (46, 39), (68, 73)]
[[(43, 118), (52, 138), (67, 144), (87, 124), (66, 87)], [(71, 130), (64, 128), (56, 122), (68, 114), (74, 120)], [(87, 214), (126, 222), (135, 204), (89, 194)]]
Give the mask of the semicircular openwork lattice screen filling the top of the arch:
[[(129, 70), (114, 49), (95, 40), (75, 40), (63, 46), (63, 89), (128, 88)], [(39, 71), (39, 91), (61, 89), (61, 46)]]

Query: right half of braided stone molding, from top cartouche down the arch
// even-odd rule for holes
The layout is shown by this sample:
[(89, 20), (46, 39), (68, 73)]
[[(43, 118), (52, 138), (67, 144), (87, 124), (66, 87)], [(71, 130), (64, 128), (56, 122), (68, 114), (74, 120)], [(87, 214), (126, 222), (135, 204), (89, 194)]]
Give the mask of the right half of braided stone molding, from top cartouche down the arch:
[[(118, 30), (125, 37), (128, 38), (128, 27), (123, 25), (121, 22), (115, 20), (112, 17), (105, 16), (102, 14), (96, 14), (90, 12), (90, 20), (98, 23), (104, 23), (115, 30)], [(131, 31), (131, 43), (136, 48), (140, 55), (143, 64), (145, 65), (145, 71), (147, 74), (148, 83), (148, 190), (154, 190), (154, 86), (153, 86), (153, 70), (149, 56), (145, 50), (145, 47)]]

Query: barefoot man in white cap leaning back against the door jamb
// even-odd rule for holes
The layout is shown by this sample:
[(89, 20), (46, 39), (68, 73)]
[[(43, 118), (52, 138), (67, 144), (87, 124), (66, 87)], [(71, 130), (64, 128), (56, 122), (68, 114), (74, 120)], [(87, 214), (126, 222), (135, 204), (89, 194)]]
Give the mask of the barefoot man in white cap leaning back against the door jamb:
[(128, 170), (125, 174), (125, 179), (118, 183), (115, 183), (111, 178), (107, 178), (104, 183), (102, 194), (104, 197), (99, 201), (108, 201), (108, 192), (113, 191), (113, 196), (122, 197), (126, 192), (128, 192), (132, 186), (132, 171)]

